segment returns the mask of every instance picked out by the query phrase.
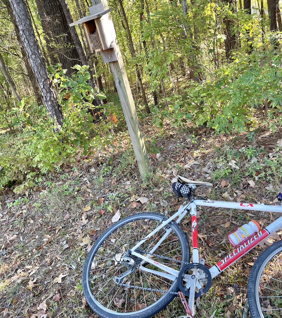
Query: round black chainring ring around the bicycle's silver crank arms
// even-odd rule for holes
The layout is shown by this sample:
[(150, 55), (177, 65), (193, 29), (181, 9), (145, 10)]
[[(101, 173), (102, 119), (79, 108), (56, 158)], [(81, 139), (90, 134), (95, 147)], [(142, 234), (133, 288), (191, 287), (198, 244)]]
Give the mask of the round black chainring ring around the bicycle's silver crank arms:
[[(184, 285), (184, 278), (185, 278), (185, 275), (189, 273), (189, 271), (191, 272), (193, 270), (201, 270), (202, 271), (201, 275), (205, 275), (205, 278), (198, 279), (199, 283), (201, 280), (201, 282), (204, 284), (204, 287), (198, 288), (199, 291), (195, 292), (195, 297), (198, 298), (198, 297), (201, 297), (202, 295), (206, 294), (207, 291), (209, 290), (209, 288), (211, 287), (211, 284), (212, 284), (212, 277), (211, 277), (210, 271), (208, 270), (208, 268), (206, 266), (204, 266), (200, 263), (191, 263), (191, 264), (184, 266), (180, 270), (179, 275), (178, 275), (178, 287), (179, 287), (179, 290), (185, 296), (189, 297), (189, 295), (190, 295), (189, 289), (190, 288), (187, 288)], [(190, 274), (188, 274), (188, 275), (190, 275)], [(206, 281), (204, 282), (203, 280), (206, 280)]]

